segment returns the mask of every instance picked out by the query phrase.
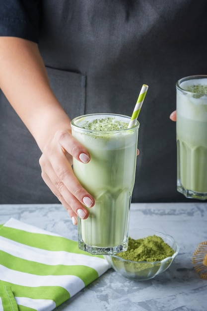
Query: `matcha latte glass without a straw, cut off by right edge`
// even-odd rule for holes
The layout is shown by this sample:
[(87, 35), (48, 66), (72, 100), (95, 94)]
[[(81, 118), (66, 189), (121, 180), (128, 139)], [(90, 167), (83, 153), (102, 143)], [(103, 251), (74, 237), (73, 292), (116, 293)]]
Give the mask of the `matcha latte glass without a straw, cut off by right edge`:
[(207, 76), (180, 79), (177, 89), (177, 190), (207, 200)]

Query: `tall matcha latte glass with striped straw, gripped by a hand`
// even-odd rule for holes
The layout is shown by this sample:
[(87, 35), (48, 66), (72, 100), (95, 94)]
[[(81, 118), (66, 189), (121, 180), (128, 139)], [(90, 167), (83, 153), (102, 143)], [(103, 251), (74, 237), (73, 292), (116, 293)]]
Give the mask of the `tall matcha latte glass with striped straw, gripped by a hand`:
[(139, 123), (130, 117), (90, 114), (72, 120), (72, 136), (90, 153), (87, 164), (73, 158), (73, 170), (94, 197), (85, 220), (78, 218), (79, 248), (91, 254), (127, 250), (131, 196), (135, 183)]

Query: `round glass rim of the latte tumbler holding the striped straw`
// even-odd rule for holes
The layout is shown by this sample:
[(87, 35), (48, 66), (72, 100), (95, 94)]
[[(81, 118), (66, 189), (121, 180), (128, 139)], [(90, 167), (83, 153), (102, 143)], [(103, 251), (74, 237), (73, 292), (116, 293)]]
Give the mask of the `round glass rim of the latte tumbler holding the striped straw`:
[(127, 131), (132, 131), (132, 130), (136, 130), (137, 128), (139, 128), (139, 122), (138, 120), (136, 121), (136, 124), (131, 127), (131, 128), (127, 128), (127, 129), (121, 129), (121, 130), (110, 130), (110, 131), (101, 131), (101, 130), (90, 130), (90, 129), (84, 129), (82, 128), (81, 126), (78, 126), (77, 124), (75, 124), (75, 121), (78, 120), (78, 119), (81, 119), (83, 117), (88, 117), (88, 116), (120, 116), (120, 117), (124, 117), (124, 118), (127, 118), (129, 121), (131, 120), (131, 117), (130, 116), (127, 116), (127, 115), (124, 115), (124, 114), (119, 114), (119, 113), (89, 113), (89, 114), (83, 114), (81, 116), (77, 116), (75, 118), (73, 118), (71, 120), (71, 127), (74, 127), (82, 132), (88, 132), (88, 133), (122, 133), (122, 132), (127, 132)]

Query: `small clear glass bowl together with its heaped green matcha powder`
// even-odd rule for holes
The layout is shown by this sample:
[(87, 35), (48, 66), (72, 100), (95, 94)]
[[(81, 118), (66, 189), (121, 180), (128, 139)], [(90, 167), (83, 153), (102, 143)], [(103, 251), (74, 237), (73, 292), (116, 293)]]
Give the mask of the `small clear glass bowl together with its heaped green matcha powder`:
[(141, 281), (154, 278), (169, 268), (178, 251), (171, 235), (134, 229), (129, 232), (128, 250), (105, 258), (124, 277)]

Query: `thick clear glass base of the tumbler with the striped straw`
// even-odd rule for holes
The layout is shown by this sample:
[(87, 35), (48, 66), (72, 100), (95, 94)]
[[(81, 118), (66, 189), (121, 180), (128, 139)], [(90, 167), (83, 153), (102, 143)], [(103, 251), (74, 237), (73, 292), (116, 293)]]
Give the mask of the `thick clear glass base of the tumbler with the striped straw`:
[(128, 238), (120, 245), (109, 247), (98, 247), (86, 244), (81, 238), (78, 241), (78, 247), (81, 250), (87, 251), (92, 255), (116, 255), (117, 253), (126, 251), (128, 249)]

